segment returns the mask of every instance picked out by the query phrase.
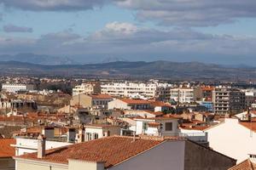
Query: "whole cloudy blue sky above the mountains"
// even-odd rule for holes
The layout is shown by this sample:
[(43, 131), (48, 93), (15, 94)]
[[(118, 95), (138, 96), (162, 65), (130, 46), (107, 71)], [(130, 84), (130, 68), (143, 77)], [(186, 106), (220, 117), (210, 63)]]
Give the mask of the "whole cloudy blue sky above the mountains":
[(256, 64), (255, 0), (0, 0), (0, 54)]

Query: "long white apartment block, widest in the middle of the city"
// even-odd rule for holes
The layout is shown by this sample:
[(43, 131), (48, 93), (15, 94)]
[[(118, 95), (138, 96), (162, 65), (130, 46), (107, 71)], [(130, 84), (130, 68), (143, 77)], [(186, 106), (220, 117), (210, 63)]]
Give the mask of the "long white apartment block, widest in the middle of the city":
[(170, 99), (171, 85), (159, 82), (111, 82), (102, 84), (102, 94), (131, 97), (143, 96), (149, 98)]

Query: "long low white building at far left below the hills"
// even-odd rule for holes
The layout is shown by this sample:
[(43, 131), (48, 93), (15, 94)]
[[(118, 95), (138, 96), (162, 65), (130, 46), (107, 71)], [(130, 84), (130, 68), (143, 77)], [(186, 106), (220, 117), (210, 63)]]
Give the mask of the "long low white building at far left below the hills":
[(3, 84), (2, 91), (3, 92), (10, 92), (10, 93), (17, 93), (19, 91), (30, 91), (33, 90), (34, 86), (32, 84)]

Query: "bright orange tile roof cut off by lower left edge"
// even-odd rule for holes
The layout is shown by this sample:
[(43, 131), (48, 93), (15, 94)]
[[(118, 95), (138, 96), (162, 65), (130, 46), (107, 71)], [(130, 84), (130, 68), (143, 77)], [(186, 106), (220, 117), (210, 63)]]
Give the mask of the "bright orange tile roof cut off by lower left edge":
[(15, 148), (10, 144), (16, 144), (16, 140), (0, 139), (0, 158), (15, 156)]

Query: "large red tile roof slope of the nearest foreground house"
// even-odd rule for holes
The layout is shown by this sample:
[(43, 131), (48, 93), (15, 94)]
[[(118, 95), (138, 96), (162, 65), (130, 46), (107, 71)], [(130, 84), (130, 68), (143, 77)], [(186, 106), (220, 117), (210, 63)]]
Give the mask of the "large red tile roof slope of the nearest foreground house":
[[(83, 161), (103, 161), (105, 167), (112, 167), (121, 161), (136, 156), (157, 144), (161, 144), (166, 139), (153, 137), (137, 137), (133, 141), (132, 137), (111, 136), (102, 139), (91, 140), (89, 142), (72, 144), (65, 147), (47, 150), (46, 156), (42, 159), (37, 158), (37, 153), (30, 153), (20, 158), (38, 161), (49, 161), (67, 164), (68, 159)], [(168, 138), (168, 140), (184, 140), (183, 138)]]

